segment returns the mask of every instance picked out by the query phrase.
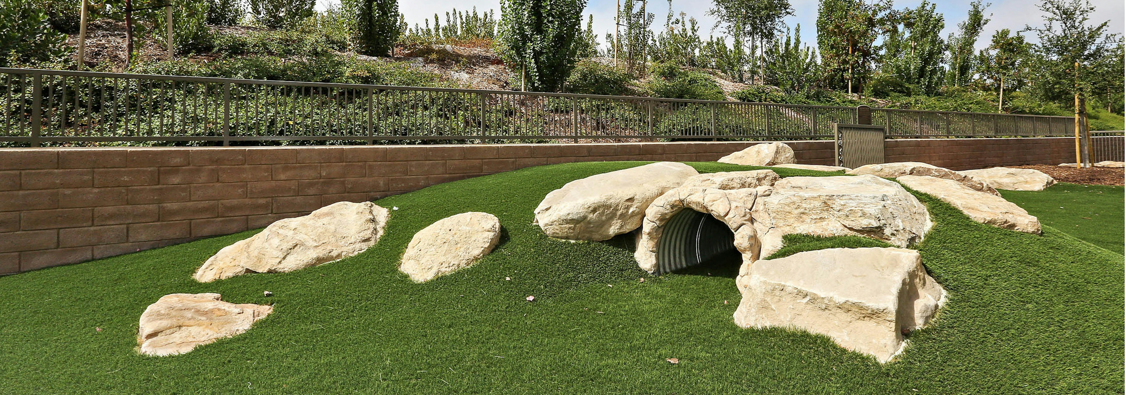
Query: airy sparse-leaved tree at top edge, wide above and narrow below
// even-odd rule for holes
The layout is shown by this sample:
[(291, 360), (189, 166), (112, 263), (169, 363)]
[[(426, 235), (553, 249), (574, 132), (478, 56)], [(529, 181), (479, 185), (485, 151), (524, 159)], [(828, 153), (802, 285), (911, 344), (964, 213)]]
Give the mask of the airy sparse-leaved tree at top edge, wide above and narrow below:
[[(774, 39), (783, 27), (783, 18), (794, 15), (789, 0), (714, 0), (708, 15), (716, 18), (717, 24), (726, 24), (727, 33), (745, 38), (750, 45), (751, 62), (766, 47), (766, 42)], [(751, 68), (756, 68), (752, 64)]]

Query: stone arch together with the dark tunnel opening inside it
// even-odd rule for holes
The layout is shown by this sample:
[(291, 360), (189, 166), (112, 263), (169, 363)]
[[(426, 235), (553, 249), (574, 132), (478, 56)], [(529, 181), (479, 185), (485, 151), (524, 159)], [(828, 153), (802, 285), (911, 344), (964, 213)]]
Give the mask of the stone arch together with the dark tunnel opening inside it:
[(754, 189), (681, 186), (665, 192), (645, 210), (634, 254), (637, 266), (649, 273), (668, 273), (723, 254), (729, 242), (743, 263), (757, 260), (760, 245), (751, 224), (757, 198)]

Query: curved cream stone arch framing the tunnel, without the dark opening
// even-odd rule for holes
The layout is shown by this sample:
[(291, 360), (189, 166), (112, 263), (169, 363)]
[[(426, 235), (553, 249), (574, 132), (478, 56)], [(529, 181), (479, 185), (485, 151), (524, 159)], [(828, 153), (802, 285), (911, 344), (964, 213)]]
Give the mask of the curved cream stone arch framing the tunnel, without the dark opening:
[(735, 235), (735, 249), (744, 263), (759, 258), (759, 240), (751, 226), (751, 208), (758, 193), (754, 189), (718, 190), (681, 186), (653, 201), (645, 210), (645, 221), (634, 258), (643, 270), (656, 270), (656, 251), (665, 223), (681, 210), (696, 210), (723, 221)]

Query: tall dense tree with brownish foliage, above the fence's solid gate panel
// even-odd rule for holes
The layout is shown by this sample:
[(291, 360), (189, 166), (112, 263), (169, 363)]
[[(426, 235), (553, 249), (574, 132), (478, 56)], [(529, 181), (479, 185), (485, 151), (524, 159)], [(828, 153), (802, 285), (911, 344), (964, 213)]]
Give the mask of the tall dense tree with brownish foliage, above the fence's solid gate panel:
[(856, 90), (872, 75), (878, 56), (876, 38), (887, 26), (890, 0), (821, 0), (817, 6), (817, 49), (822, 83), (826, 88)]

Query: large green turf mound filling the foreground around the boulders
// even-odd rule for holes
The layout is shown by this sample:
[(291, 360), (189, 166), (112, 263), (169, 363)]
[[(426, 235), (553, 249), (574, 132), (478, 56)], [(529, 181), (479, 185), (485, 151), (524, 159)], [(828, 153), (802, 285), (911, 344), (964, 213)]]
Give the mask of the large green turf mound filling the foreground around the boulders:
[[(288, 274), (190, 278), (251, 231), (0, 277), (0, 392), (1123, 393), (1120, 255), (1051, 227), (1038, 236), (984, 226), (921, 195), (937, 226), (918, 248), (949, 301), (910, 334), (899, 360), (881, 365), (826, 337), (735, 327), (733, 265), (653, 277), (637, 268), (627, 237), (569, 242), (531, 224), (547, 192), (640, 164), (542, 166), (383, 199), (399, 210), (375, 247)], [(500, 218), (506, 235), (492, 254), (425, 284), (396, 270), (415, 231), (464, 211)], [(275, 311), (247, 333), (187, 355), (133, 350), (145, 306), (200, 292)]]

